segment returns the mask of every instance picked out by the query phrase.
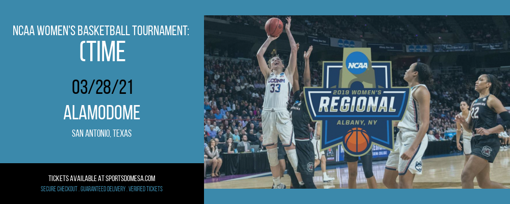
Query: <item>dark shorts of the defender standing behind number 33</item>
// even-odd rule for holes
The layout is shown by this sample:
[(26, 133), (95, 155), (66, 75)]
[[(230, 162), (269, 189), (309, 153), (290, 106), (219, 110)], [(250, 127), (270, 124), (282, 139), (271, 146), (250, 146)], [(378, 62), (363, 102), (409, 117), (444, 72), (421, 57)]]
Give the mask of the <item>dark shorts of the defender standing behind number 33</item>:
[(314, 145), (309, 141), (296, 140), (297, 172), (304, 175), (314, 175), (315, 154)]

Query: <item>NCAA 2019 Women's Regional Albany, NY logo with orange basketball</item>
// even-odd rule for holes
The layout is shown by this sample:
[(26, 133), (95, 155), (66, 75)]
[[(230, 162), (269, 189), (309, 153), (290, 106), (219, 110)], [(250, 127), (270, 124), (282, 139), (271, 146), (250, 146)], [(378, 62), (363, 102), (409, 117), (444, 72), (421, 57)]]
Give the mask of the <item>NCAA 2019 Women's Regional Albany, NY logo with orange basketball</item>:
[(323, 62), (322, 87), (305, 87), (314, 121), (322, 122), (321, 149), (339, 144), (363, 156), (376, 144), (393, 150), (392, 121), (405, 113), (409, 87), (391, 86), (391, 62), (371, 62), (370, 48), (344, 48), (345, 62)]

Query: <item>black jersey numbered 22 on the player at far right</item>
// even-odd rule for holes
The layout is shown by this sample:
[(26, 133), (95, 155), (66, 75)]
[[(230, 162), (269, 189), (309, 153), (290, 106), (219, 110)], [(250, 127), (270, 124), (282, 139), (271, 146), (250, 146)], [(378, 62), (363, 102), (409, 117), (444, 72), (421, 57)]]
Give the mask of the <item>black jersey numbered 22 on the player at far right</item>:
[(496, 118), (498, 114), (487, 105), (488, 96), (476, 99), (471, 106), (471, 118), (473, 119), (473, 134), (475, 129), (483, 127), (483, 129), (491, 129), (498, 125)]

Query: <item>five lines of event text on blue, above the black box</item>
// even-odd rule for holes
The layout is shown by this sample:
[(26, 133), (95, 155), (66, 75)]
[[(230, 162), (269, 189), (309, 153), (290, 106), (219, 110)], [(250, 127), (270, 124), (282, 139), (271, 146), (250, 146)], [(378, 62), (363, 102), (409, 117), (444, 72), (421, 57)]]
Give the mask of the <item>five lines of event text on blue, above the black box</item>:
[[(131, 27), (131, 28), (130, 28)], [(132, 32), (130, 32), (132, 31)], [(13, 25), (14, 36), (189, 36), (188, 25)], [(76, 41), (82, 62), (125, 62), (121, 56), (127, 52), (122, 41)], [(87, 50), (88, 49), (88, 50)], [(77, 52), (78, 53), (78, 52)], [(88, 58), (90, 53), (90, 58)], [(133, 80), (72, 80), (73, 94), (133, 94)], [(115, 84), (113, 84), (115, 82)], [(128, 86), (129, 84), (129, 86)], [(140, 105), (65, 105), (64, 120), (139, 120)], [(80, 109), (80, 110), (77, 110)], [(131, 137), (132, 130), (122, 127), (112, 129), (72, 129), (72, 137)]]

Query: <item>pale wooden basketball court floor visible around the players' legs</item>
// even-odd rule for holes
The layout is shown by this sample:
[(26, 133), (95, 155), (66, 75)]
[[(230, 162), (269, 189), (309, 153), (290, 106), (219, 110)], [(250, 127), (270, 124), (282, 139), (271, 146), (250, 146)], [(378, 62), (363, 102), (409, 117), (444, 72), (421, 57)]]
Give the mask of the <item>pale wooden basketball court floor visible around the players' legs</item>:
[[(452, 156), (453, 155), (453, 156)], [(440, 155), (436, 157), (424, 157), (423, 173), (416, 175), (414, 188), (461, 188), (461, 172), (464, 167), (465, 156), (461, 154)], [(510, 149), (500, 149), (496, 160), (491, 165), (491, 180), (510, 187)], [(374, 176), (378, 188), (386, 188), (382, 184), (386, 161), (373, 163)], [(347, 188), (348, 171), (347, 165), (328, 166), (326, 170), (329, 177), (335, 177), (335, 181), (323, 183), (320, 168), (315, 169), (314, 183), (318, 189)], [(398, 182), (398, 179), (397, 179)], [(475, 188), (479, 188), (474, 180)], [(287, 188), (290, 188), (290, 176), (285, 174), (282, 178)], [(363, 173), (361, 163), (358, 166), (358, 188), (368, 188), (367, 180)], [(260, 189), (271, 188), (271, 173), (259, 173), (248, 175), (221, 176), (204, 180), (204, 189)]]

